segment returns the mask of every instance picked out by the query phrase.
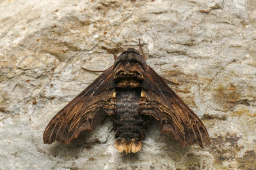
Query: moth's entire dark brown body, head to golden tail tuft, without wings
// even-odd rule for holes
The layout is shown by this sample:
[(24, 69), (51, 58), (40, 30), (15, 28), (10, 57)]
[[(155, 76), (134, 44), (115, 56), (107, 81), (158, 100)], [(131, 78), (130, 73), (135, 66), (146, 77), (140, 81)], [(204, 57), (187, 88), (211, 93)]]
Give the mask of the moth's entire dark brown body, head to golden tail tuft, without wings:
[(138, 52), (131, 49), (122, 55), (124, 57), (116, 59), (114, 64), (116, 113), (113, 120), (116, 148), (119, 152), (138, 152), (141, 148), (140, 140), (145, 138), (145, 120), (139, 111), (145, 71), (143, 65), (136, 60)]

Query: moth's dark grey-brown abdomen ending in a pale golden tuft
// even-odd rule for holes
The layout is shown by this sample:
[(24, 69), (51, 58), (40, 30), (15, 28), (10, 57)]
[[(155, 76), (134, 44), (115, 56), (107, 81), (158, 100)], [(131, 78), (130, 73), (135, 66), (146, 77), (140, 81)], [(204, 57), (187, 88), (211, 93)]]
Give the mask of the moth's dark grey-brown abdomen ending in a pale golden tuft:
[(144, 138), (145, 120), (138, 113), (141, 89), (116, 88), (116, 148), (119, 152), (138, 152)]

